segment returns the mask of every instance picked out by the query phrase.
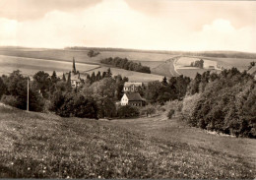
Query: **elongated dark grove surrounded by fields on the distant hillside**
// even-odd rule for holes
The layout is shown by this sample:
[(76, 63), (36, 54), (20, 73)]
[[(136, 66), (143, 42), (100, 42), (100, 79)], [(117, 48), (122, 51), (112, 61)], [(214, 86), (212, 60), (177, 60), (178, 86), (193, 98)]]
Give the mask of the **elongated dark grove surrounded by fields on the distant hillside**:
[(136, 72), (149, 73), (149, 74), (151, 73), (150, 67), (143, 66), (141, 63), (129, 61), (127, 58), (109, 57), (106, 59), (102, 59), (100, 63), (112, 65), (114, 67), (129, 70), (129, 71), (136, 71)]

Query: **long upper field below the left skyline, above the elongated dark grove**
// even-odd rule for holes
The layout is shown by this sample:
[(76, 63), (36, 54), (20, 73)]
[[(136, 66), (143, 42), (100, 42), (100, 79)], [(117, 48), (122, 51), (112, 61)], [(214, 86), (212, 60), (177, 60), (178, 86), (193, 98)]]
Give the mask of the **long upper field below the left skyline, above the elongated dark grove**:
[(169, 54), (145, 53), (145, 52), (122, 52), (122, 51), (99, 51), (100, 54), (90, 58), (89, 50), (71, 49), (33, 49), (33, 48), (4, 48), (0, 47), (1, 55), (31, 57), (37, 59), (53, 59), (70, 61), (75, 57), (77, 62), (99, 63), (101, 59), (108, 57), (128, 58), (133, 61), (164, 61), (172, 57)]

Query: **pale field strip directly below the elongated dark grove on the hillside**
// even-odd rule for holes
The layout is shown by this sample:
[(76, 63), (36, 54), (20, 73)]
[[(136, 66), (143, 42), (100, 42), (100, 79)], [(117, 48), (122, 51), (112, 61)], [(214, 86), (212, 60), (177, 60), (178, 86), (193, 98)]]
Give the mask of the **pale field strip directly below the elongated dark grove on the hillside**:
[[(97, 73), (98, 71), (106, 72), (108, 67), (101, 67), (98, 69), (94, 69), (92, 71), (87, 71), (86, 73), (92, 74), (93, 72)], [(147, 74), (147, 73), (139, 73), (135, 71), (127, 71), (124, 69), (119, 69), (119, 68), (110, 68), (112, 75), (121, 75), (122, 77), (127, 77), (129, 78), (129, 82), (150, 82), (150, 81), (162, 81), (162, 76), (160, 75), (154, 75), (154, 74)]]

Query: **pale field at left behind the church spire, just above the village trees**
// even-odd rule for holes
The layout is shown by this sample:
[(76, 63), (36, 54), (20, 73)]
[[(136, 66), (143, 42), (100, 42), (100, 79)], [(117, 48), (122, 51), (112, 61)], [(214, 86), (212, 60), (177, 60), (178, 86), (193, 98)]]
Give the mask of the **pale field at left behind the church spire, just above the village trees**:
[[(98, 67), (99, 65), (94, 64), (76, 63), (76, 68), (80, 72), (89, 71)], [(51, 75), (55, 70), (57, 75), (60, 76), (63, 72), (72, 70), (72, 59), (70, 62), (66, 62), (0, 55), (0, 75), (12, 73), (18, 69), (22, 71), (22, 74), (30, 76), (38, 71), (44, 71)]]

